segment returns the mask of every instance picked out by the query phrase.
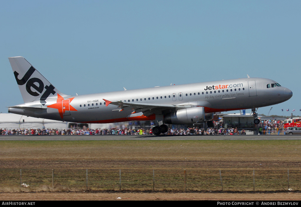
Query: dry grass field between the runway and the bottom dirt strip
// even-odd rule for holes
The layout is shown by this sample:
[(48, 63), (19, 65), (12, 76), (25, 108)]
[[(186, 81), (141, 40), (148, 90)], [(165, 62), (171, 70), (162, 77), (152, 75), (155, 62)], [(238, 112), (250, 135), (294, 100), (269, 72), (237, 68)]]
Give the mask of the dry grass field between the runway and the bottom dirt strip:
[[(43, 187), (21, 190), (47, 191), (54, 169), (61, 191), (86, 189), (87, 183), (89, 190), (301, 190), (300, 144), (298, 140), (1, 141), (0, 181), (18, 191), (22, 169), (24, 182)], [(13, 183), (8, 182), (10, 177)]]

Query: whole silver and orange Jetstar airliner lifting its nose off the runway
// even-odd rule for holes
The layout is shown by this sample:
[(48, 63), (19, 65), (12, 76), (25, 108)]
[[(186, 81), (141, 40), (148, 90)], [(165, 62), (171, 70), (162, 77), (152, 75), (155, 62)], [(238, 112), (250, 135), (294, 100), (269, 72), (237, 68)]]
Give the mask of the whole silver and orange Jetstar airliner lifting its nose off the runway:
[(79, 123), (155, 120), (153, 134), (165, 133), (165, 124), (201, 123), (213, 113), (252, 109), (284, 102), (293, 93), (265, 78), (240, 78), (184, 85), (70, 96), (58, 91), (25, 58), (8, 58), (24, 103), (9, 113)]

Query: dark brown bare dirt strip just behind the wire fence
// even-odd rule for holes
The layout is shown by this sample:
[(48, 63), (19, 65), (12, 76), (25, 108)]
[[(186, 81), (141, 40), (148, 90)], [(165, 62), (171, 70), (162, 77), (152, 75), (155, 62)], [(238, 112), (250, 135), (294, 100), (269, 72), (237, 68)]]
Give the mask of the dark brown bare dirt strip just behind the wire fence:
[(0, 160), (1, 168), (44, 168), (44, 169), (243, 169), (243, 168), (290, 168), (299, 169), (300, 161), (291, 160), (168, 160), (168, 159), (22, 159)]

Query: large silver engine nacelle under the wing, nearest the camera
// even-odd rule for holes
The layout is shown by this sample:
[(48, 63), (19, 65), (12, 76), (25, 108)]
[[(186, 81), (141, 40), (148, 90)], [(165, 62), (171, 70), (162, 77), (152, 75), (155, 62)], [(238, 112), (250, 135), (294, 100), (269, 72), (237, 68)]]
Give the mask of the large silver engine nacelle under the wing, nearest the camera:
[(191, 107), (164, 116), (166, 124), (193, 124), (205, 121), (204, 107)]

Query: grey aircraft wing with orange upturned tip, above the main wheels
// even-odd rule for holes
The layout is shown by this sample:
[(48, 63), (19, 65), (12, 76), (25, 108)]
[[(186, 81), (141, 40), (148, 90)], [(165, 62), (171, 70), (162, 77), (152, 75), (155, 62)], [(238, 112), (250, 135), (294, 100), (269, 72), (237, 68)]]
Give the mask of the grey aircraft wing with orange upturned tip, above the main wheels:
[(106, 106), (109, 104), (118, 106), (119, 111), (132, 110), (132, 113), (142, 112), (145, 116), (150, 116), (151, 114), (164, 114), (165, 110), (169, 112), (175, 110), (176, 108), (188, 108), (191, 106), (175, 106), (172, 104), (154, 104), (154, 103), (133, 103), (133, 102), (122, 102), (122, 101), (109, 101), (103, 99), (106, 102)]

